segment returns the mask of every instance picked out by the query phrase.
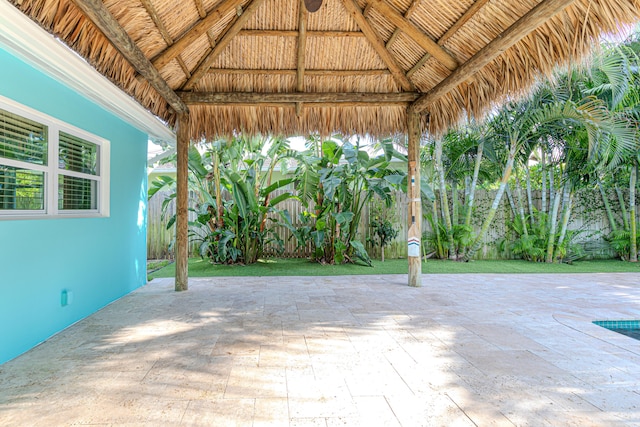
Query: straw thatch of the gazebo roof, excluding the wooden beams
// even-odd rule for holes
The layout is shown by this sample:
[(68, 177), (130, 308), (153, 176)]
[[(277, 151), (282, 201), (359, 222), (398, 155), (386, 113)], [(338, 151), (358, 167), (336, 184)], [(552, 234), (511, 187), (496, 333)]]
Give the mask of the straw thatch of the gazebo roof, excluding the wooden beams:
[[(88, 22), (70, 0), (10, 0), (16, 7), (40, 23), (45, 29), (65, 41), (86, 58), (99, 72), (137, 99), (145, 108), (169, 124), (175, 113), (144, 79), (136, 75), (131, 65), (111, 45), (104, 35)], [(174, 41), (188, 31), (200, 15), (194, 2), (151, 0)], [(248, 0), (247, 0), (248, 1)], [(246, 5), (247, 1), (241, 4)], [(364, 8), (365, 0), (356, 0)], [(410, 0), (388, 0), (400, 13), (407, 12)], [(409, 20), (438, 40), (473, 4), (472, 0), (415, 0)], [(539, 0), (494, 0), (448, 35), (444, 49), (460, 63), (499, 36), (521, 16), (536, 6)], [(109, 10), (151, 59), (166, 48), (159, 31), (139, 0), (106, 0)], [(211, 12), (219, 1), (205, 0)], [(299, 1), (267, 0), (245, 25), (246, 29), (289, 30), (298, 28)], [(159, 71), (170, 87), (180, 89), (205, 55), (215, 39), (235, 16), (231, 10), (220, 17), (208, 34), (201, 35)], [(480, 72), (451, 90), (427, 107), (429, 131), (442, 134), (467, 115), (482, 117), (506, 98), (523, 95), (540, 78), (550, 76), (557, 64), (579, 64), (589, 55), (603, 33), (617, 32), (640, 17), (639, 0), (575, 0), (562, 13), (533, 31), (519, 43), (507, 49)], [(375, 5), (368, 12), (369, 22), (376, 27), (382, 41), (388, 42), (395, 27)], [(346, 13), (342, 0), (324, 0), (320, 11), (308, 15), (307, 31), (358, 31), (354, 19)], [(397, 35), (388, 50), (397, 58), (404, 71), (412, 68), (424, 50), (404, 34)], [(308, 37), (305, 68), (315, 70), (378, 70), (386, 68), (364, 37)], [(187, 68), (187, 71), (183, 69)], [(297, 67), (297, 39), (285, 36), (238, 35), (214, 61), (214, 68), (291, 70)], [(417, 90), (428, 92), (451, 71), (434, 58), (412, 74)], [(209, 73), (196, 85), (198, 91), (219, 92), (293, 92), (294, 74), (221, 74)], [(307, 75), (306, 92), (399, 92), (398, 82), (390, 74), (334, 76)], [(215, 137), (233, 132), (304, 134), (362, 133), (387, 135), (405, 130), (406, 106), (390, 105), (305, 105), (300, 116), (294, 105), (263, 106), (192, 106), (194, 138)]]

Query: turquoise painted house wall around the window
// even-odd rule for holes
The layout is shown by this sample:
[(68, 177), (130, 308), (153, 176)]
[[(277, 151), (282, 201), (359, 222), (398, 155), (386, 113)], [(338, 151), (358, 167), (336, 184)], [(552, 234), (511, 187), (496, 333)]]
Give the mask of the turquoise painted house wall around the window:
[(1, 47), (0, 95), (111, 141), (110, 217), (0, 220), (1, 364), (146, 283), (147, 135)]

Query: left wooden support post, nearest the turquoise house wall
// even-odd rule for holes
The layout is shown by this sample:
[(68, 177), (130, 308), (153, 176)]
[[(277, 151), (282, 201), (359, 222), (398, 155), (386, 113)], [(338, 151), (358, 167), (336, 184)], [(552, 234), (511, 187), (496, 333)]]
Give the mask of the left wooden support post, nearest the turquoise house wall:
[(178, 114), (176, 138), (176, 291), (189, 289), (189, 114)]

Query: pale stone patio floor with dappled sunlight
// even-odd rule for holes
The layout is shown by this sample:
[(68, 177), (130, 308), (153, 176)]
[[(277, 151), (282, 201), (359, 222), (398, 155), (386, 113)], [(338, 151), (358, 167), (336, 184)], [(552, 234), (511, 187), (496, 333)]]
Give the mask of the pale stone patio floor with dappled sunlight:
[(0, 425), (640, 425), (640, 341), (591, 323), (638, 274), (422, 281), (156, 279), (0, 365)]

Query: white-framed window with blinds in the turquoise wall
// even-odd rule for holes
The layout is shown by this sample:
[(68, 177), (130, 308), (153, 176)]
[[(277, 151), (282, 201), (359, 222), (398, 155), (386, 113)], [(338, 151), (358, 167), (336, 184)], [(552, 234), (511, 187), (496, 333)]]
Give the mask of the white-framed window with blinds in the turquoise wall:
[(109, 141), (0, 97), (0, 219), (109, 215)]

